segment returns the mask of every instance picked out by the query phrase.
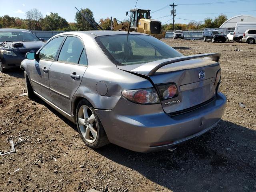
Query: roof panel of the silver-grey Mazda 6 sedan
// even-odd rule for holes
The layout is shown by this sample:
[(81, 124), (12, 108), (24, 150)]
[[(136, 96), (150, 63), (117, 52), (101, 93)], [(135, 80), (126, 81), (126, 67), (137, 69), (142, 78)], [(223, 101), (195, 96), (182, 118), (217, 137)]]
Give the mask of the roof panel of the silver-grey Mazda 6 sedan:
[[(111, 30), (94, 30), (94, 31), (69, 31), (69, 32), (64, 32), (60, 33), (61, 34), (66, 34), (66, 35), (81, 35), (81, 34), (87, 34), (89, 36), (106, 36), (106, 35), (124, 35), (127, 34), (127, 31), (111, 31)], [(130, 34), (133, 35), (148, 35), (145, 33), (138, 33), (138, 32), (130, 32)]]

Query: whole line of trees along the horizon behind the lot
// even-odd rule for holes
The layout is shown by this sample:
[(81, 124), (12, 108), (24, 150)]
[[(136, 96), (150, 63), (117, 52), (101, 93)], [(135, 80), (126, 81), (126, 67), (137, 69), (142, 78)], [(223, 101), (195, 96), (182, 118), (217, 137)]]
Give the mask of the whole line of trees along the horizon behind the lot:
[[(86, 12), (92, 19), (94, 15), (88, 8), (82, 9), (82, 12)], [(22, 28), (28, 30), (60, 30), (60, 31), (83, 31), (83, 30), (94, 30), (89, 22), (87, 22), (80, 12), (75, 14), (75, 22), (67, 22), (66, 19), (58, 15), (58, 13), (51, 12), (45, 17), (42, 13), (34, 8), (28, 10), (25, 13), (26, 19), (11, 17), (4, 15), (0, 17), (0, 28)], [(218, 17), (205, 18), (204, 24), (201, 22), (190, 22), (188, 24), (176, 23), (174, 28), (178, 29), (198, 29), (198, 28), (219, 28), (222, 23), (227, 20), (227, 16), (220, 14)], [(99, 25), (105, 30), (111, 25), (110, 18), (100, 19)], [(172, 30), (172, 23), (162, 25), (162, 30)]]

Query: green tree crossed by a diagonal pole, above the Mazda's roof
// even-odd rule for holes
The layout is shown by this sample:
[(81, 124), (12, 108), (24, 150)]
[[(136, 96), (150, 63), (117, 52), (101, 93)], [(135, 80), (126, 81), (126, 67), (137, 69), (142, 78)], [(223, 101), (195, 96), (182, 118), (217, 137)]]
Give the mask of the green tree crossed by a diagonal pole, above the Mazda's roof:
[[(90, 9), (88, 8), (82, 9), (82, 13), (87, 14), (94, 20), (93, 13)], [(94, 27), (88, 21), (85, 20), (85, 18), (82, 16), (80, 12), (76, 12), (75, 21), (76, 21), (76, 28), (79, 31), (94, 30)]]

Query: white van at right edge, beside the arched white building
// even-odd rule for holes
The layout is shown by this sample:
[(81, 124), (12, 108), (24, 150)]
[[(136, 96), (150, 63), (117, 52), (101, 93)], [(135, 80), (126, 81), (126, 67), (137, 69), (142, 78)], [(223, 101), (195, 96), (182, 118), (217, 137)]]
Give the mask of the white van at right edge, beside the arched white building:
[(236, 23), (233, 40), (242, 42), (243, 34), (248, 29), (255, 29), (256, 22), (239, 22)]

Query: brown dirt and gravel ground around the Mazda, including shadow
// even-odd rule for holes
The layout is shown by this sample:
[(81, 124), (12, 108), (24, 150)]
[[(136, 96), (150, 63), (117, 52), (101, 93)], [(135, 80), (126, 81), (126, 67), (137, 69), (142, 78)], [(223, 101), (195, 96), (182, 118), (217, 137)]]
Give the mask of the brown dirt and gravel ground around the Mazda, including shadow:
[(174, 152), (92, 150), (53, 108), (20, 96), (22, 71), (0, 73), (0, 150), (10, 150), (8, 140), (16, 149), (0, 156), (0, 191), (256, 191), (256, 45), (163, 41), (184, 55), (221, 53), (228, 102), (215, 128)]

